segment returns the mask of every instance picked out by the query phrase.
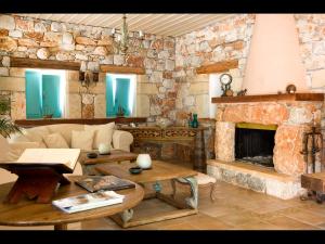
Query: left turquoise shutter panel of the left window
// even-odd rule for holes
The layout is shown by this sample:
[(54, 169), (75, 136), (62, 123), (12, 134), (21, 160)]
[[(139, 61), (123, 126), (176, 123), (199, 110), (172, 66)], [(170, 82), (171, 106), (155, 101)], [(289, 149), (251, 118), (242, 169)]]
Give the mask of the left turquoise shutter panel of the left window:
[(26, 88), (26, 117), (42, 117), (42, 92), (41, 75), (37, 72), (27, 70), (25, 75)]

